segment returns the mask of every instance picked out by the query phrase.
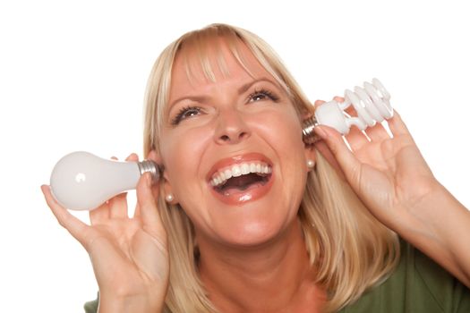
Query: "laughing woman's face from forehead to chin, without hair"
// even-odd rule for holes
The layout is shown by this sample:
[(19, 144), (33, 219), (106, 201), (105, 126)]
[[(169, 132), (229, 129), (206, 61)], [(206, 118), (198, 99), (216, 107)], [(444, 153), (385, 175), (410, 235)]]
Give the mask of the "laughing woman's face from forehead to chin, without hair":
[(188, 79), (184, 62), (195, 57), (191, 50), (176, 57), (160, 158), (166, 188), (192, 220), (198, 241), (252, 246), (295, 221), (308, 152), (286, 91), (240, 46), (252, 76), (226, 44), (227, 75), (209, 53), (216, 82), (194, 66)]

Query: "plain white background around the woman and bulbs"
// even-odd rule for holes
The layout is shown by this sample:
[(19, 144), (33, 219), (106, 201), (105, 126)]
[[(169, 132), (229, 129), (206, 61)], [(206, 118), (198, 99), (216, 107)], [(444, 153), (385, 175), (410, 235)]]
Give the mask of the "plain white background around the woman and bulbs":
[(81, 312), (94, 299), (88, 255), (39, 186), (74, 150), (141, 155), (152, 63), (213, 22), (267, 40), (312, 101), (378, 77), (435, 175), (470, 206), (468, 14), (449, 0), (2, 1), (1, 310)]

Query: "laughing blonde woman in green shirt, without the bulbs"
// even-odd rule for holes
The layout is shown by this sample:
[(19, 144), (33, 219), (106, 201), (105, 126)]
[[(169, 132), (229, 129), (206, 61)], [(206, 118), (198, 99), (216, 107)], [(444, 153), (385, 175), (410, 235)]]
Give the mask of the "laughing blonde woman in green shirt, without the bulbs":
[(83, 224), (43, 186), (90, 253), (99, 312), (470, 309), (470, 213), (398, 114), (393, 138), (352, 130), (352, 151), (328, 127), (303, 144), (313, 106), (266, 43), (222, 24), (164, 50), (146, 103), (163, 177), (141, 177), (133, 218), (120, 195)]

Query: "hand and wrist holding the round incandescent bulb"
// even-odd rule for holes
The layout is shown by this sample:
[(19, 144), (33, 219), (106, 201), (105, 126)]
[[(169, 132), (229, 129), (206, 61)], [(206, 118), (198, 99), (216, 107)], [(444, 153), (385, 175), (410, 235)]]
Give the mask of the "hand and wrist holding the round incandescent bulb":
[[(137, 161), (136, 155), (126, 160)], [(99, 287), (103, 312), (161, 312), (167, 294), (167, 233), (152, 193), (150, 173), (137, 185), (137, 207), (127, 215), (125, 194), (90, 211), (90, 225), (81, 222), (41, 186), (59, 224), (88, 251)], [(158, 190), (158, 188), (154, 188)]]

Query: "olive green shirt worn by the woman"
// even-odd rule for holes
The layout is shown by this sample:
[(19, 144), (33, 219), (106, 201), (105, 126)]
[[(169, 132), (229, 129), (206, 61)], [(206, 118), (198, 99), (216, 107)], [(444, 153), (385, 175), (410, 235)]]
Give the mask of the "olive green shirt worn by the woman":
[[(470, 290), (432, 259), (401, 241), (400, 263), (379, 286), (339, 313), (470, 313)], [(98, 300), (85, 304), (96, 313)]]

